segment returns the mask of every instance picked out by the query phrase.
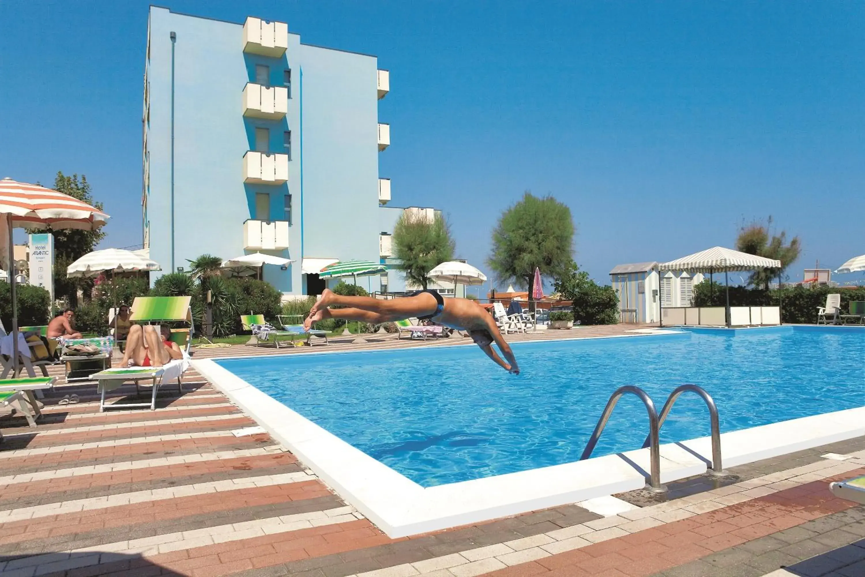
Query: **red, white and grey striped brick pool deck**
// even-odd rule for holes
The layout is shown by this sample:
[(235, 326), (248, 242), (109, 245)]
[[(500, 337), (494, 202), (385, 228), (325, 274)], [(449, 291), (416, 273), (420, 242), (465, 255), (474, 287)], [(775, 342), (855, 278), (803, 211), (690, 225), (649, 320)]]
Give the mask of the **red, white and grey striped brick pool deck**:
[[(369, 340), (279, 353), (462, 342)], [(195, 358), (275, 352), (234, 346)], [(865, 507), (828, 490), (865, 474), (865, 437), (670, 484), (666, 501), (618, 495), (634, 508), (614, 516), (572, 504), (390, 539), (269, 435), (250, 430), (254, 421), (195, 371), (183, 381), (184, 393), (161, 392), (153, 412), (100, 414), (93, 383), (61, 381), (35, 429), (0, 415), (0, 573), (865, 576)], [(79, 404), (57, 404), (71, 393)], [(134, 393), (127, 385), (112, 401), (136, 401)]]

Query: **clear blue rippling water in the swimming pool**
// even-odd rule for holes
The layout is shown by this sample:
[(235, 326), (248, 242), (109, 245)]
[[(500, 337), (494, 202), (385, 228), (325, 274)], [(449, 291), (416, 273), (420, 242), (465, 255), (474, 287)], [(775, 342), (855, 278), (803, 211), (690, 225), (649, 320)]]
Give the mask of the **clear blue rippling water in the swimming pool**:
[[(694, 382), (734, 431), (865, 406), (865, 330), (793, 328), (668, 337), (517, 343), (521, 375), (477, 347), (219, 361), (299, 414), (423, 486), (575, 461), (612, 391), (644, 388), (661, 410)], [(593, 453), (638, 448), (648, 431), (636, 397), (618, 402)], [(708, 435), (686, 394), (661, 440)]]

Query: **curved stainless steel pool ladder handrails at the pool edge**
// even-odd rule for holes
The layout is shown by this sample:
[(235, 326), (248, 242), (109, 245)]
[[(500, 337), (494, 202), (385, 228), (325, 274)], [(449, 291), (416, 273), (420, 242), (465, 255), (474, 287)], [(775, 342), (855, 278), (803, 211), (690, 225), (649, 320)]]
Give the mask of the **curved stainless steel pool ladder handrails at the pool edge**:
[(660, 417), (655, 410), (655, 403), (652, 402), (649, 394), (647, 394), (642, 388), (634, 387), (633, 385), (625, 385), (625, 387), (619, 387), (616, 389), (616, 392), (610, 395), (610, 400), (606, 401), (604, 413), (600, 415), (598, 425), (595, 426), (592, 438), (589, 439), (589, 442), (586, 444), (586, 449), (583, 450), (580, 460), (592, 456), (592, 452), (598, 444), (598, 439), (600, 439), (600, 434), (604, 432), (606, 421), (610, 420), (610, 414), (612, 414), (612, 409), (616, 407), (618, 400), (625, 394), (634, 394), (640, 401), (643, 401), (646, 411), (649, 413), (649, 435), (643, 443), (644, 447), (649, 447), (650, 477), (646, 479), (648, 481), (647, 488), (652, 492), (663, 493), (667, 488), (661, 484), (661, 446), (658, 437), (663, 421), (667, 419), (667, 415), (670, 414), (670, 409), (673, 408), (676, 400), (682, 395), (682, 393), (687, 393), (689, 391), (699, 394), (708, 407), (709, 420), (712, 426), (712, 468), (708, 470), (708, 473), (718, 476), (725, 475), (726, 473), (723, 471), (723, 466), (721, 465), (721, 427), (718, 424), (718, 408), (715, 407), (714, 400), (710, 394), (708, 394), (702, 387), (697, 387), (696, 385), (691, 384), (676, 387), (676, 389), (670, 393), (670, 396), (667, 397), (667, 402), (663, 404)]

